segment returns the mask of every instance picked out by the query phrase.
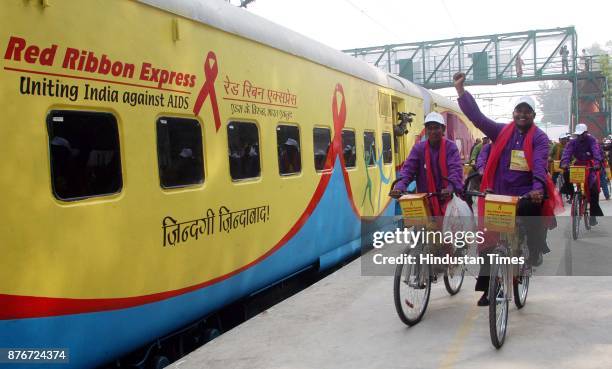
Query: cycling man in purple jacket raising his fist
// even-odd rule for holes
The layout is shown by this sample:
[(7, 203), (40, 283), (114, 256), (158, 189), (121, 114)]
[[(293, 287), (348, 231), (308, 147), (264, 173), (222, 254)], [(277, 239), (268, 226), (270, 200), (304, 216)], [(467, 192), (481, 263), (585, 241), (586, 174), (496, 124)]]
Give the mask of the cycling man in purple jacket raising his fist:
[[(529, 262), (532, 265), (542, 263), (542, 253), (550, 250), (546, 245), (546, 232), (554, 228), (554, 213), (563, 209), (563, 202), (552, 177), (547, 173), (548, 136), (536, 127), (535, 102), (529, 96), (521, 97), (514, 104), (513, 118), (509, 124), (497, 123), (487, 118), (472, 95), (465, 91), (465, 73), (453, 76), (455, 89), (459, 95), (459, 107), (476, 128), (491, 138), (489, 159), (484, 169), (480, 189), (492, 191), (499, 195), (523, 196), (518, 202), (517, 215), (531, 216), (527, 225), (527, 245)], [(547, 198), (544, 199), (544, 190)], [(478, 201), (478, 213), (484, 213), (484, 201)], [(544, 217), (542, 217), (544, 216)], [(479, 245), (480, 252), (486, 253), (495, 246), (497, 235), (488, 232), (485, 243)], [(489, 260), (485, 257), (485, 260)], [(483, 291), (478, 301), (479, 306), (489, 304), (487, 289), (489, 286), (489, 265), (482, 265), (476, 282), (476, 291)]]

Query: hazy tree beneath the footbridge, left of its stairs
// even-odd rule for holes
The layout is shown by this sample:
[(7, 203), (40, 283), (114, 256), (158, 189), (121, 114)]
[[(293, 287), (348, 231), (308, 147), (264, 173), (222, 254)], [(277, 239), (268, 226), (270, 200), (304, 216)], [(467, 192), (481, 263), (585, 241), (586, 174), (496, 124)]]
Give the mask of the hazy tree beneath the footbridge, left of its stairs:
[(569, 124), (571, 112), (572, 85), (567, 81), (542, 81), (537, 96), (542, 122)]

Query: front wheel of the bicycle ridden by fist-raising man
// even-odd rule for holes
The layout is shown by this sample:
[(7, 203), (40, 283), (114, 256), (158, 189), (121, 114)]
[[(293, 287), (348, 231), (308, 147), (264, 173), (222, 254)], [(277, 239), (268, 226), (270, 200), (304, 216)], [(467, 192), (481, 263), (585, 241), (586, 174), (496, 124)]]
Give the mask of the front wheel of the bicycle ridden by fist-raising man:
[[(505, 253), (500, 251), (500, 256)], [(508, 293), (506, 277), (507, 265), (491, 264), (491, 278), (489, 278), (489, 333), (491, 343), (499, 349), (506, 338), (508, 327)]]

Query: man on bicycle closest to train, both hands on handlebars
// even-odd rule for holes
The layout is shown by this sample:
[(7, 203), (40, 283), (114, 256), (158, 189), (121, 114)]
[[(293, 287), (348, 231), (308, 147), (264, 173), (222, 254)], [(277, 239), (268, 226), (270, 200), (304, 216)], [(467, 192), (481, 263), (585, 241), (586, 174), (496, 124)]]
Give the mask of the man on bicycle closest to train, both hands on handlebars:
[(389, 196), (399, 198), (416, 177), (417, 192), (441, 192), (430, 197), (434, 216), (444, 215), (453, 192), (463, 189), (463, 166), (457, 145), (444, 137), (444, 117), (431, 112), (425, 117), (427, 140), (412, 147), (400, 170), (400, 177)]

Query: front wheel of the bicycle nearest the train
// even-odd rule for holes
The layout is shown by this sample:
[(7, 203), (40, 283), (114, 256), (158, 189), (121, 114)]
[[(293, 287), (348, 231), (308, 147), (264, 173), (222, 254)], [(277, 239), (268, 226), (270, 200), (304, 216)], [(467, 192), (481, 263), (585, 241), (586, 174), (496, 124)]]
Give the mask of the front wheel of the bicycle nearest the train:
[(422, 247), (407, 247), (404, 250), (404, 255), (416, 256), (416, 263), (398, 264), (393, 280), (395, 310), (400, 320), (408, 326), (421, 321), (431, 294), (431, 265), (419, 262), (420, 250)]

